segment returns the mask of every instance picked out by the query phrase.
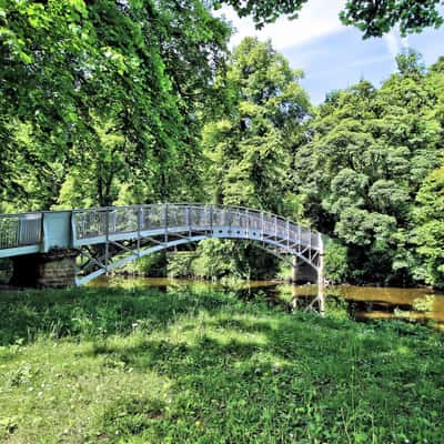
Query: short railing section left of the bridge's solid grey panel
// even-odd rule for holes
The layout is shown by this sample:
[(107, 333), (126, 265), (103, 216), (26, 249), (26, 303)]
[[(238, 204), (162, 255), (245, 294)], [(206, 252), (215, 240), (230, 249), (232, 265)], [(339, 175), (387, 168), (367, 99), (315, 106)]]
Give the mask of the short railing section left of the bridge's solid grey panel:
[(42, 213), (0, 214), (0, 250), (39, 244)]

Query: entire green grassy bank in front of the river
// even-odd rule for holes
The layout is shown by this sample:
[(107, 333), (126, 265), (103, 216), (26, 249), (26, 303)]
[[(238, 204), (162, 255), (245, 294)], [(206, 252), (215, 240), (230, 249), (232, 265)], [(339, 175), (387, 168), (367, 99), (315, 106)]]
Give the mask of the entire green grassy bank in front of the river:
[(444, 340), (421, 326), (155, 290), (0, 309), (0, 442), (444, 443)]

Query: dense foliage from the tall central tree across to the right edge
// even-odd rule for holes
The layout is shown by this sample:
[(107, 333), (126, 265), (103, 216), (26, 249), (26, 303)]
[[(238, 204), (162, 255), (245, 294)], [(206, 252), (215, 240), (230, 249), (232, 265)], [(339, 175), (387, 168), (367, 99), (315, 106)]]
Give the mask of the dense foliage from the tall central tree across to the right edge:
[[(333, 240), (327, 274), (336, 282), (442, 285), (441, 214), (431, 206), (432, 236), (432, 221), (418, 209), (438, 204), (424, 186), (444, 147), (442, 60), (426, 70), (407, 51), (380, 89), (361, 81), (331, 93), (311, 115), (296, 78), (278, 83), (286, 64), (270, 63), (270, 54), (268, 43), (246, 39), (224, 74), (229, 111), (204, 128), (202, 142), (213, 202), (311, 221)], [(275, 268), (255, 263), (251, 248), (242, 268), (240, 246), (212, 245), (198, 248), (206, 262), (175, 263), (173, 274), (250, 276)]]

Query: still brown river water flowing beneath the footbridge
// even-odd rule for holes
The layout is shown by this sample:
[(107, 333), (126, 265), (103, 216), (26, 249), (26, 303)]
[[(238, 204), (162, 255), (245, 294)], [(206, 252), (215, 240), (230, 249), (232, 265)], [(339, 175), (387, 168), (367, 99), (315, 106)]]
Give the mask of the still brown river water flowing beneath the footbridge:
[[(157, 287), (161, 291), (230, 291), (240, 297), (263, 297), (272, 304), (291, 309), (306, 307), (316, 295), (316, 285), (291, 285), (278, 281), (209, 282), (169, 278), (102, 276), (94, 286)], [(336, 285), (327, 286), (326, 312), (357, 321), (401, 319), (428, 324), (444, 332), (444, 294), (430, 289), (397, 289)]]

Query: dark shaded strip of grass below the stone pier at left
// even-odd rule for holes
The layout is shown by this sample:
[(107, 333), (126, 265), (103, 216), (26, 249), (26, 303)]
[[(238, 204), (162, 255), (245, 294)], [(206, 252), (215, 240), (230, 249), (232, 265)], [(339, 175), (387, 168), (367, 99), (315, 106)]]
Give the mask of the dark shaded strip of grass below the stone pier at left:
[(164, 329), (178, 316), (215, 313), (233, 299), (208, 293), (93, 289), (0, 291), (0, 345), (27, 344), (38, 335), (80, 340)]

